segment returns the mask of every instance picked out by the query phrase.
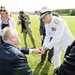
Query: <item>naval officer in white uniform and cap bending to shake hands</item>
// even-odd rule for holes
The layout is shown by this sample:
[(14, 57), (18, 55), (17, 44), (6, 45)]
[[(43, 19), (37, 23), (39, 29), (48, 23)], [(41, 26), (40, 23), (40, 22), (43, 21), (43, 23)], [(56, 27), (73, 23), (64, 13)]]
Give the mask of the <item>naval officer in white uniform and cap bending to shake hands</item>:
[[(68, 48), (74, 38), (67, 26), (67, 23), (60, 17), (52, 16), (52, 12), (46, 8), (40, 10), (40, 18), (45, 23), (46, 36), (41, 48), (42, 53), (54, 47), (54, 69), (60, 66), (61, 51)], [(53, 37), (50, 41), (49, 38)]]

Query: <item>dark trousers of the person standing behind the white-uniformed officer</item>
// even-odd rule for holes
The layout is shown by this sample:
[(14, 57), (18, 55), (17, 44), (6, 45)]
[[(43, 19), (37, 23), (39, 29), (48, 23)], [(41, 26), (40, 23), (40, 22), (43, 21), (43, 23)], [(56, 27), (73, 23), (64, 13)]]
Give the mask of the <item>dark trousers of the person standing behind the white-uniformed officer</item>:
[[(52, 38), (50, 38), (50, 41), (51, 41)], [(43, 41), (42, 41), (42, 44), (43, 44)], [(48, 60), (51, 61), (52, 60), (52, 57), (53, 57), (53, 54), (54, 54), (54, 48), (52, 48), (51, 50), (46, 50), (44, 54), (41, 55), (41, 62), (44, 62), (46, 56), (47, 56), (47, 53), (48, 53)]]

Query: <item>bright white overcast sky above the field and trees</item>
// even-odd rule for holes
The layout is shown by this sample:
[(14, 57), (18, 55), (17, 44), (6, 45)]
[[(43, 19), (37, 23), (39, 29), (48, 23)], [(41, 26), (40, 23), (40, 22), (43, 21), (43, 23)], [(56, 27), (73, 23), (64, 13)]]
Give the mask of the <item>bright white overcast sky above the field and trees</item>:
[(75, 0), (0, 0), (0, 5), (6, 6), (9, 11), (35, 11), (43, 6), (54, 10), (75, 8)]

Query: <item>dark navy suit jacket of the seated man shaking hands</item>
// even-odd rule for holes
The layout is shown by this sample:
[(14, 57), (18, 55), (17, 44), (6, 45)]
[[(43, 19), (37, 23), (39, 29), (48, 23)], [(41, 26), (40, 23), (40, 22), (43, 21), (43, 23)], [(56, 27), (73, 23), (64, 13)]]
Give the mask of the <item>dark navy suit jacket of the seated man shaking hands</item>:
[[(24, 54), (29, 49), (21, 50)], [(14, 45), (4, 43), (0, 46), (0, 75), (34, 75), (26, 56)]]

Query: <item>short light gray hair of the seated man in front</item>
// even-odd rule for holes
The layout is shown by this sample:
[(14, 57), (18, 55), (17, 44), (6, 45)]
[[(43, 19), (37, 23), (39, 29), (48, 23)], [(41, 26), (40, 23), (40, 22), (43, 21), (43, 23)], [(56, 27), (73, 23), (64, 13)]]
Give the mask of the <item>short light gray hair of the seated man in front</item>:
[(16, 29), (12, 27), (5, 27), (2, 30), (2, 40), (6, 41), (7, 39), (9, 39), (10, 36), (15, 35), (15, 31)]

